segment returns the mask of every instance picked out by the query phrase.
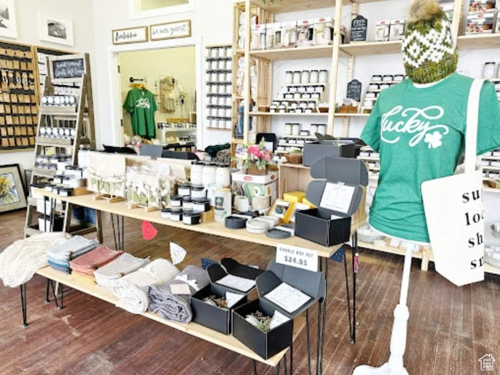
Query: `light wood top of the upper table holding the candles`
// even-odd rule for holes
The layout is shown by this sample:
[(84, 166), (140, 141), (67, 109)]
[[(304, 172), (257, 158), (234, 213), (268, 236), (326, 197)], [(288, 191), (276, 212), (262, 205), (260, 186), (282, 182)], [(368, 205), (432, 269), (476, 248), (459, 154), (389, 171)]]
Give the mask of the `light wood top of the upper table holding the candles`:
[[(69, 196), (62, 197), (56, 194), (52, 194), (50, 192), (45, 191), (44, 189), (36, 189), (36, 193), (44, 196), (48, 196), (51, 198), (61, 199), (62, 201), (67, 201), (69, 203), (73, 203), (82, 207), (88, 207), (97, 209), (103, 212), (115, 213), (119, 215), (123, 215), (126, 217), (138, 219), (138, 220), (146, 220), (150, 222), (154, 222), (157, 224), (174, 226), (181, 229), (192, 230), (199, 233), (206, 233), (212, 235), (218, 235), (221, 237), (238, 239), (241, 241), (249, 241), (253, 243), (259, 243), (266, 246), (276, 247), (278, 243), (285, 243), (298, 247), (305, 247), (311, 250), (316, 250), (319, 256), (322, 257), (330, 257), (337, 251), (341, 245), (335, 245), (330, 247), (325, 247), (320, 244), (308, 241), (306, 239), (292, 236), (290, 238), (276, 240), (273, 238), (267, 237), (265, 234), (254, 234), (249, 233), (246, 229), (228, 229), (223, 224), (218, 222), (206, 222), (198, 225), (185, 225), (182, 222), (171, 221), (167, 219), (161, 218), (160, 211), (153, 212), (144, 212), (141, 209), (129, 209), (125, 202), (116, 202), (116, 203), (107, 203), (102, 200), (94, 200), (94, 194), (86, 194), (79, 196)], [(359, 226), (361, 226), (363, 222), (355, 223), (351, 226), (352, 232), (354, 232)]]

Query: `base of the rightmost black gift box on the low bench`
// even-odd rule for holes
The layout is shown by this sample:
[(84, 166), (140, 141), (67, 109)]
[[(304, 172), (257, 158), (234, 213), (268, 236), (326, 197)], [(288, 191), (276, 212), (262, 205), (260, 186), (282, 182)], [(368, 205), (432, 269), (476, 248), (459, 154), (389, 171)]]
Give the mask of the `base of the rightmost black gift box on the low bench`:
[(255, 299), (232, 311), (232, 335), (264, 359), (269, 359), (291, 345), (293, 320), (288, 320), (268, 332), (262, 332), (245, 320), (245, 316), (260, 311), (273, 316), (276, 309), (263, 299)]

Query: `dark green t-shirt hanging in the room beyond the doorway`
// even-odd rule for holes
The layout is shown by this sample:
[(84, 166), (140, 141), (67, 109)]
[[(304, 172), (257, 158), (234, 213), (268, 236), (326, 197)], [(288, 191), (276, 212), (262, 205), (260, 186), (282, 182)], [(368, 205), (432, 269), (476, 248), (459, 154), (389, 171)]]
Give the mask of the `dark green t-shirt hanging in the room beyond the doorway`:
[(154, 138), (156, 136), (156, 124), (154, 112), (156, 111), (156, 99), (148, 90), (132, 88), (126, 95), (123, 108), (130, 113), (132, 130), (135, 135)]

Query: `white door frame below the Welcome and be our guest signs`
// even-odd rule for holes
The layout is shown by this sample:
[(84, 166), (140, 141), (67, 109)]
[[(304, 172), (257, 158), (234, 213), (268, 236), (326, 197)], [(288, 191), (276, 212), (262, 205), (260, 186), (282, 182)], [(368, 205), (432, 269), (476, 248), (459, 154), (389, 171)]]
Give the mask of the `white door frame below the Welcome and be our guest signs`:
[(109, 72), (109, 98), (111, 103), (111, 132), (116, 145), (123, 145), (121, 128), (121, 92), (120, 77), (118, 73), (118, 53), (142, 51), (150, 49), (163, 49), (173, 47), (194, 46), (194, 70), (196, 76), (196, 148), (203, 148), (203, 125), (201, 121), (202, 110), (202, 66), (203, 50), (201, 36), (178, 38), (169, 40), (147, 41), (144, 43), (112, 45), (107, 49), (107, 67)]

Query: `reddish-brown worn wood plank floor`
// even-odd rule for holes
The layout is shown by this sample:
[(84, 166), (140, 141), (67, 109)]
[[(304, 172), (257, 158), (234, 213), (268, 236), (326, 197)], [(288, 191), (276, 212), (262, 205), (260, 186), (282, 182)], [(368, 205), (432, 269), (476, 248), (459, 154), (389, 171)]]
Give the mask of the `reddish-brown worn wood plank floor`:
[[(22, 235), (24, 212), (0, 215), (0, 250)], [(113, 246), (110, 222), (104, 241)], [(265, 267), (272, 248), (157, 226), (146, 242), (140, 222), (125, 219), (125, 250), (168, 258), (168, 242), (184, 246), (185, 264), (198, 257), (231, 256)], [(348, 343), (342, 264), (330, 262), (324, 373), (348, 375), (358, 364), (381, 365), (388, 357), (392, 310), (398, 301), (402, 257), (374, 251), (361, 254), (358, 276), (357, 342)], [(135, 316), (76, 290), (65, 308), (44, 304), (44, 280), (27, 284), (29, 326), (22, 328), (18, 288), (0, 286), (0, 374), (251, 374), (249, 359), (162, 324)], [(455, 287), (414, 261), (409, 290), (410, 321), (404, 356), (411, 375), (482, 373), (478, 359), (496, 358), (500, 373), (500, 278)], [(312, 312), (316, 316), (316, 311)], [(313, 327), (314, 332), (314, 327)], [(315, 347), (315, 340), (312, 339)], [(305, 332), (294, 346), (294, 373), (305, 374)], [(260, 374), (275, 373), (258, 364)]]

